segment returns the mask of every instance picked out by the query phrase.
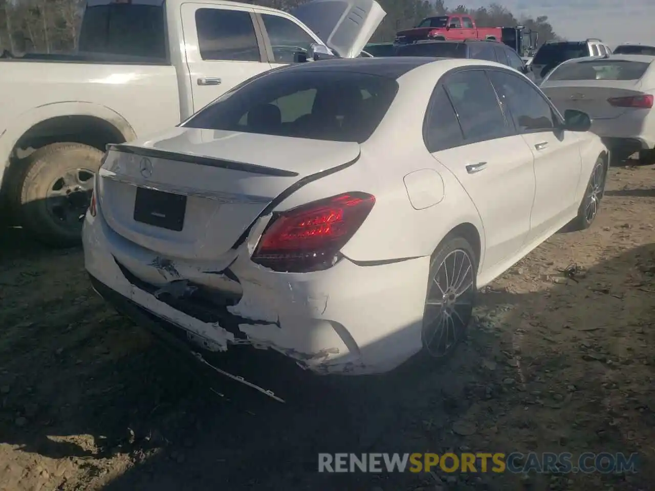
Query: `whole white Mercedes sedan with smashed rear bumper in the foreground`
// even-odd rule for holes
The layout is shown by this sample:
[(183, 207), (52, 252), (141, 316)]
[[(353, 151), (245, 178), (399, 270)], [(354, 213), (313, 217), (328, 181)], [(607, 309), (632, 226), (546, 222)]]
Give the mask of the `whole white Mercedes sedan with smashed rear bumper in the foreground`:
[(603, 197), (607, 149), (481, 60), (324, 60), (244, 82), (107, 150), (83, 232), (94, 288), (191, 350), (320, 374), (453, 353), (477, 289)]

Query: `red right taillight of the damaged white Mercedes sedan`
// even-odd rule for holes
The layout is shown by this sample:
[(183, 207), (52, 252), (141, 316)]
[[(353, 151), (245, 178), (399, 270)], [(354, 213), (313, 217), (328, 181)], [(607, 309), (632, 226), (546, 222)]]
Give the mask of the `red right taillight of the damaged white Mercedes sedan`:
[(283, 272), (327, 269), (374, 204), (371, 194), (346, 192), (283, 211), (272, 218), (252, 260)]

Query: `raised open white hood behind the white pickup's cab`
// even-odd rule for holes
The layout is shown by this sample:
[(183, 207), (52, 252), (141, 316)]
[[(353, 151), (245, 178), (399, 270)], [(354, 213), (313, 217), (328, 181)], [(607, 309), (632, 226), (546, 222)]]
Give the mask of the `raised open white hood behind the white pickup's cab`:
[(313, 0), (291, 14), (343, 58), (356, 58), (386, 16), (375, 0)]

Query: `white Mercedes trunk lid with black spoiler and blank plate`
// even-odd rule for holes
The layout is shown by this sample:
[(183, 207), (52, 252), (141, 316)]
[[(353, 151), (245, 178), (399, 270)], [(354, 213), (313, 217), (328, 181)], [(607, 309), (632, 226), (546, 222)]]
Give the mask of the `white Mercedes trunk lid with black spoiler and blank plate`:
[(359, 154), (353, 142), (174, 128), (111, 147), (98, 200), (128, 240), (165, 257), (214, 259), (290, 186)]

